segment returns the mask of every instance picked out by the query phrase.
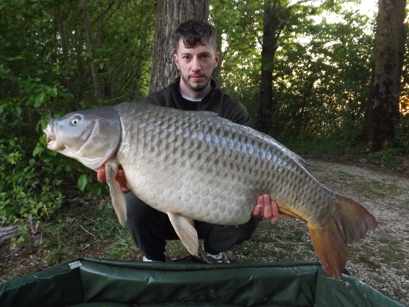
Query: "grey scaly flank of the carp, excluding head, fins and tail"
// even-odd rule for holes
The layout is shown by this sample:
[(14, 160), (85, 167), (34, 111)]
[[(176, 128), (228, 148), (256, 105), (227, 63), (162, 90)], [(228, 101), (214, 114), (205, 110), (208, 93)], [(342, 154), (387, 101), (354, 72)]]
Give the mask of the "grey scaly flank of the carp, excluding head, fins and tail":
[[(183, 212), (184, 216), (193, 220), (237, 225), (249, 220), (260, 194), (268, 193), (272, 195), (272, 199), (284, 206), (287, 203), (297, 204), (298, 199), (303, 197), (302, 194), (294, 192), (299, 189), (297, 185), (300, 181), (293, 178), (305, 178), (304, 169), (294, 165), (294, 161), (291, 163), (281, 150), (272, 149), (265, 140), (250, 137), (245, 127), (232, 127), (230, 122), (221, 118), (200, 117), (189, 112), (180, 117), (180, 113), (173, 109), (157, 112), (155, 107), (150, 107), (137, 112), (132, 104), (122, 104), (116, 108), (122, 116), (126, 130), (133, 131), (126, 134), (126, 138), (122, 140), (123, 143), (133, 144), (133, 147), (120, 149), (117, 159), (129, 174), (127, 179), (132, 181), (129, 186), (135, 186), (134, 192), (158, 210), (165, 212), (171, 208), (174, 212)], [(151, 119), (150, 123), (148, 119)], [(244, 131), (240, 131), (240, 128)], [(229, 133), (226, 134), (226, 130)], [(154, 133), (159, 137), (157, 148), (152, 142), (151, 136)], [(176, 142), (178, 136), (184, 137), (185, 142), (182, 139)], [(215, 148), (223, 157), (222, 160), (217, 159), (214, 154)], [(163, 155), (158, 156), (157, 151), (163, 152)], [(146, 159), (143, 163), (138, 163), (142, 159), (142, 152)], [(190, 172), (186, 172), (189, 169)], [(260, 169), (263, 171), (258, 177)], [(180, 178), (183, 172), (185, 173)], [(231, 173), (228, 185), (221, 183), (225, 172)], [(153, 178), (148, 179), (148, 174)], [(203, 178), (206, 178), (204, 182)], [(152, 181), (160, 188), (152, 188), (149, 185), (147, 189), (145, 181)], [(315, 191), (314, 198), (318, 198), (319, 192), (325, 189), (315, 180), (311, 180), (309, 185), (314, 186), (314, 189), (311, 189)], [(207, 186), (214, 192), (206, 196), (199, 195), (198, 192)], [(179, 191), (180, 195), (174, 193), (175, 190)], [(327, 192), (330, 193), (328, 190)], [(219, 205), (229, 198), (235, 199), (236, 214), (228, 214), (222, 205)], [(153, 203), (156, 199), (161, 200), (160, 205)], [(333, 204), (328, 206), (331, 205), (334, 207)], [(203, 209), (192, 211), (191, 208), (195, 206)], [(309, 218), (311, 209), (303, 210), (305, 207), (301, 204), (297, 211)], [(328, 210), (320, 212), (322, 214), (316, 218), (324, 224), (327, 216), (333, 215), (333, 212)]]

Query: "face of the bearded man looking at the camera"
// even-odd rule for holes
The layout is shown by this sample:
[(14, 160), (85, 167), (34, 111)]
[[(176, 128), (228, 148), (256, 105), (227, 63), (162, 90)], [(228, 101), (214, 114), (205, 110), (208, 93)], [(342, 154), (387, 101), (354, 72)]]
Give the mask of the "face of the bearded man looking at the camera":
[(181, 82), (184, 82), (181, 86), (196, 93), (206, 89), (219, 62), (219, 53), (209, 42), (204, 46), (198, 43), (193, 48), (186, 48), (180, 39), (177, 54), (173, 57), (180, 70)]

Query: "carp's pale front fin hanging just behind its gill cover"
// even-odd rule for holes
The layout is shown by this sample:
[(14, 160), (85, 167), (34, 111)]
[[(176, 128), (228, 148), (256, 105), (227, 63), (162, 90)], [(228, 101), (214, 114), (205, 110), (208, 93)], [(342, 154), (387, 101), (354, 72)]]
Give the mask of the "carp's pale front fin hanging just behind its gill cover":
[(118, 164), (113, 161), (109, 161), (105, 164), (105, 172), (106, 183), (109, 186), (109, 192), (111, 194), (113, 210), (115, 210), (115, 213), (117, 213), (119, 224), (124, 227), (126, 223), (126, 202), (125, 196), (122, 193), (116, 179), (118, 173)]

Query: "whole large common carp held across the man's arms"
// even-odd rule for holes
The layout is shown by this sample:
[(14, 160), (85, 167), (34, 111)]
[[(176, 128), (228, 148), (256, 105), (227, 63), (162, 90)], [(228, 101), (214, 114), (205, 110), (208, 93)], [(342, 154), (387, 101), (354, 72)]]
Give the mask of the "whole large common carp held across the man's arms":
[(361, 205), (316, 181), (304, 160), (269, 136), (211, 112), (125, 102), (53, 119), (48, 148), (98, 170), (105, 165), (113, 208), (126, 222), (115, 180), (122, 165), (127, 187), (166, 212), (187, 250), (197, 255), (193, 220), (243, 224), (259, 195), (281, 214), (307, 222), (326, 272), (339, 277), (347, 245), (376, 228)]

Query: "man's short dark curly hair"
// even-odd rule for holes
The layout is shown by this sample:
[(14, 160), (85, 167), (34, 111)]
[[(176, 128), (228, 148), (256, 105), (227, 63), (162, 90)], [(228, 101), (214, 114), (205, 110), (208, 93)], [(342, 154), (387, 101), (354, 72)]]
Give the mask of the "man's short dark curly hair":
[(206, 21), (187, 20), (177, 26), (175, 31), (176, 53), (180, 39), (186, 48), (193, 48), (199, 42), (201, 45), (210, 42), (216, 52), (216, 30), (213, 25)]

